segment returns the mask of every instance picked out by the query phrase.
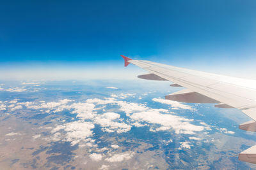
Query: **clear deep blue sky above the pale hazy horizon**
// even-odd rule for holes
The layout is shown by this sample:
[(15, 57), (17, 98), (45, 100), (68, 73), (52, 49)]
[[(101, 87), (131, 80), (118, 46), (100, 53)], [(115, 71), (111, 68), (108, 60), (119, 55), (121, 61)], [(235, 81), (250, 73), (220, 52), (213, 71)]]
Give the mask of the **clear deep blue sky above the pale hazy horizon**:
[(0, 64), (115, 67), (123, 54), (192, 69), (245, 69), (256, 61), (255, 9), (253, 0), (3, 1)]

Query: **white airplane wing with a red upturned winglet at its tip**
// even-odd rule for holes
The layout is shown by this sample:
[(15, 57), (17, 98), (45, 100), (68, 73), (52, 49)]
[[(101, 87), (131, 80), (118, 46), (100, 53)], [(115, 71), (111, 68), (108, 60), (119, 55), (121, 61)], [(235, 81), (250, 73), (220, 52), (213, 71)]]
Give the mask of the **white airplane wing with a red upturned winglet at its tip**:
[[(244, 131), (256, 132), (256, 81), (234, 78), (181, 67), (168, 66), (147, 60), (132, 60), (121, 55), (125, 67), (130, 63), (147, 70), (138, 76), (147, 80), (172, 81), (172, 87), (186, 89), (165, 96), (165, 99), (184, 103), (216, 103), (218, 108), (237, 108), (252, 121), (239, 125)], [(256, 145), (239, 153), (239, 160), (256, 164)]]

